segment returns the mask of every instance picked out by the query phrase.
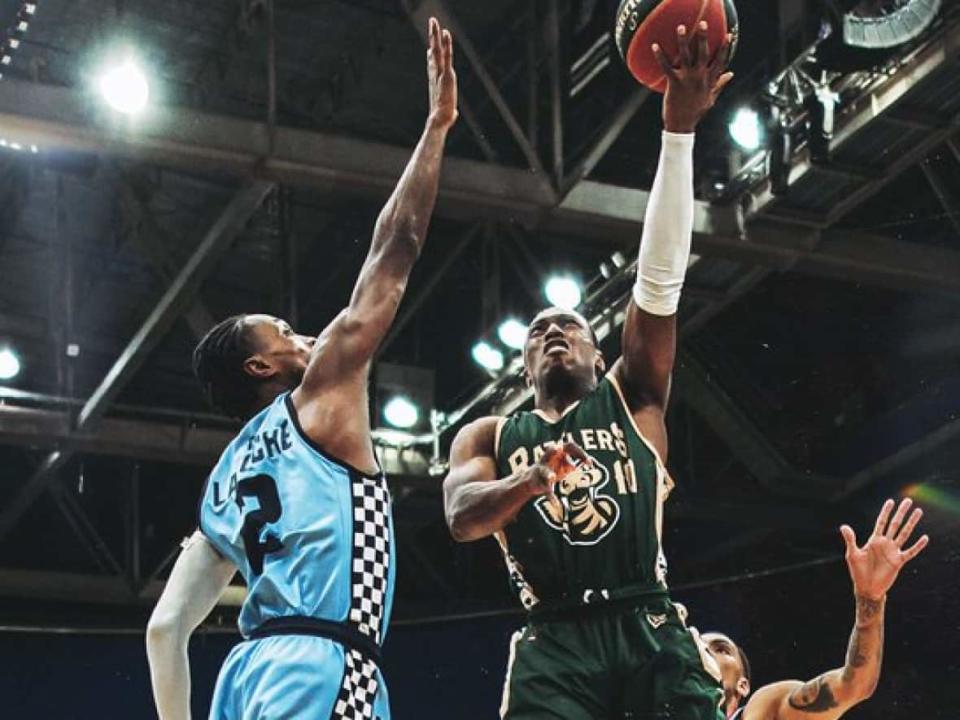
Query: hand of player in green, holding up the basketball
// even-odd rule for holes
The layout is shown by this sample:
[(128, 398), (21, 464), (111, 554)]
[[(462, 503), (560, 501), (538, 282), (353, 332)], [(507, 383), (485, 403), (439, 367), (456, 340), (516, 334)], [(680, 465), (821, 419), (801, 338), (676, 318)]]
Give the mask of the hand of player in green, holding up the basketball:
[(692, 34), (684, 25), (677, 28), (680, 53), (676, 63), (667, 58), (662, 47), (653, 45), (653, 54), (667, 77), (663, 125), (668, 132), (692, 133), (716, 103), (733, 79), (733, 73), (726, 71), (732, 42), (733, 36), (727, 35), (723, 45), (711, 53), (707, 23), (701, 21)]

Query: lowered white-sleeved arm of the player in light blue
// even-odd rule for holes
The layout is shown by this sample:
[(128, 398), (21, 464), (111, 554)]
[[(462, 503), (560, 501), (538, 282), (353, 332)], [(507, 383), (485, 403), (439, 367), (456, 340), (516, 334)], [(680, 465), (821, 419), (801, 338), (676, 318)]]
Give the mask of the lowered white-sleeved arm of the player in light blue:
[(147, 624), (147, 658), (160, 720), (189, 720), (190, 635), (210, 614), (237, 568), (199, 532), (185, 543)]

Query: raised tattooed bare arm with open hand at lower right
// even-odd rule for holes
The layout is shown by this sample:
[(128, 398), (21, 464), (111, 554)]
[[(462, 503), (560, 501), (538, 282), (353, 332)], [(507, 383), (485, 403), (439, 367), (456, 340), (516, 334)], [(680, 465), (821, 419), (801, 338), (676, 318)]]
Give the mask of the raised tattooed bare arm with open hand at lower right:
[(849, 526), (840, 529), (856, 598), (856, 619), (843, 667), (806, 683), (786, 681), (761, 688), (747, 703), (744, 720), (836, 720), (873, 695), (883, 661), (887, 591), (903, 566), (929, 542), (924, 535), (908, 550), (903, 549), (923, 515), (917, 509), (907, 520), (910, 505), (909, 499), (900, 503), (891, 520), (894, 502), (888, 500), (862, 548), (857, 547)]

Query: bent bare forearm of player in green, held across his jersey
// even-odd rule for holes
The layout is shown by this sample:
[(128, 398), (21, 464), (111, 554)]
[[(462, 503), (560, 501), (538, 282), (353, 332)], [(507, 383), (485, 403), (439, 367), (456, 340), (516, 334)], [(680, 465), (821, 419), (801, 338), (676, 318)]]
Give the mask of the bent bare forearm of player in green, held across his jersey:
[(446, 515), (457, 542), (489, 537), (512, 521), (533, 497), (523, 473), (463, 483), (447, 492)]

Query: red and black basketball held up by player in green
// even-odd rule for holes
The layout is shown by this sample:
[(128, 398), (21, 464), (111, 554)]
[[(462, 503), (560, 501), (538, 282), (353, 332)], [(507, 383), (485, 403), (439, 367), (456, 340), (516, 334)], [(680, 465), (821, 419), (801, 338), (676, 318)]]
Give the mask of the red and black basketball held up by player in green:
[(667, 79), (650, 46), (663, 48), (671, 60), (679, 53), (677, 27), (693, 33), (705, 20), (710, 51), (716, 52), (727, 33), (733, 35), (730, 57), (736, 49), (738, 20), (733, 0), (622, 0), (617, 10), (614, 37), (630, 74), (656, 92), (664, 92)]

